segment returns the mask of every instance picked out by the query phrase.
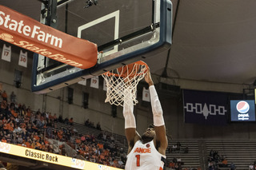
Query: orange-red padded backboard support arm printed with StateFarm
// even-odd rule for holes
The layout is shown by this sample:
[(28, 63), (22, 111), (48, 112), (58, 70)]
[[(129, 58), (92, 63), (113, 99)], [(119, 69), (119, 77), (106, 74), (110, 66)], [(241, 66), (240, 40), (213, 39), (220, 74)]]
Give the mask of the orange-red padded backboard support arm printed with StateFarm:
[(81, 69), (97, 63), (97, 45), (0, 6), (0, 39)]

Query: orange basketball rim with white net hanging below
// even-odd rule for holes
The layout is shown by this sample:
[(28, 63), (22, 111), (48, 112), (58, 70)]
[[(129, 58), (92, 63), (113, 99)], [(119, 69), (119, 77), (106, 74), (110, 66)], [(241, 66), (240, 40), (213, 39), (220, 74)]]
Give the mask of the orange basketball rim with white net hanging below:
[(124, 97), (130, 97), (133, 105), (136, 105), (137, 85), (146, 74), (148, 66), (143, 61), (137, 61), (130, 65), (124, 65), (102, 74), (106, 81), (106, 100), (111, 105), (123, 106)]

